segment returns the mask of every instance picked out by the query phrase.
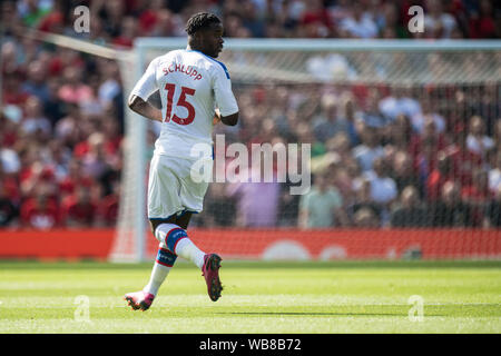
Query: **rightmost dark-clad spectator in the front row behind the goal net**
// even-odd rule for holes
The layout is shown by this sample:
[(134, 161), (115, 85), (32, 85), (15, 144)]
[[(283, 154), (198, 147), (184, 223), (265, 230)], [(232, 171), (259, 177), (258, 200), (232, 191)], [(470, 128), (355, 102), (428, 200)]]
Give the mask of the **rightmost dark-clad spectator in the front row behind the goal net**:
[(432, 206), (432, 226), (473, 226), (471, 209), (468, 205), (461, 201), (460, 186), (456, 182), (446, 181), (443, 185), (441, 192), (441, 199)]

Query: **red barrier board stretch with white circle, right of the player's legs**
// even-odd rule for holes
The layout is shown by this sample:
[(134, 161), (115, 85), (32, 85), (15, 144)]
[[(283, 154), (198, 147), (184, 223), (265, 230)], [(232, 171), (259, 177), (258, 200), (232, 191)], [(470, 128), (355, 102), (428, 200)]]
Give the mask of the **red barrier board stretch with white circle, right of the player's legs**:
[(501, 230), (193, 230), (193, 240), (227, 258), (501, 258)]

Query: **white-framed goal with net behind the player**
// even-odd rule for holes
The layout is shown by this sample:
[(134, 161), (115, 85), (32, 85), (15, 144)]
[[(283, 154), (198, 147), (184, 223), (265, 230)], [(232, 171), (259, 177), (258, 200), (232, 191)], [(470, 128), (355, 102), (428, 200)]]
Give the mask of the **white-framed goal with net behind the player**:
[[(137, 39), (118, 58), (125, 98), (155, 57), (185, 47)], [(499, 41), (228, 39), (218, 60), (240, 122), (215, 126), (214, 171), (229, 169), (232, 144), (282, 142), (310, 145), (313, 179), (305, 195), (291, 194), (288, 175), (210, 184), (190, 224), (204, 247), (234, 258), (499, 258)], [(110, 257), (136, 261), (156, 246), (146, 189), (159, 125), (126, 111)]]

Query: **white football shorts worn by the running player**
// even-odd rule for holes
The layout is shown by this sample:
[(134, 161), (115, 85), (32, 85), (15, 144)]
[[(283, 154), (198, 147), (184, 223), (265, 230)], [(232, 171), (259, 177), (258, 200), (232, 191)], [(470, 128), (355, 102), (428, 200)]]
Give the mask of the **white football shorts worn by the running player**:
[[(195, 161), (186, 158), (154, 155), (148, 178), (148, 218), (167, 219), (185, 210), (200, 212), (208, 181), (194, 181)], [(212, 165), (209, 177), (212, 177)]]

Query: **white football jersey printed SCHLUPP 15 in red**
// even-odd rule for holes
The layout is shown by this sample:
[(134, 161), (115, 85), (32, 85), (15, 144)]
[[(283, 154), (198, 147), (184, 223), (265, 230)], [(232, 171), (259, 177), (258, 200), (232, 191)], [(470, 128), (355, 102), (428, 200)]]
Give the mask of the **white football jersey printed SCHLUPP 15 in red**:
[(194, 145), (213, 145), (215, 108), (222, 116), (238, 111), (225, 65), (196, 50), (174, 50), (155, 58), (131, 95), (146, 101), (157, 90), (163, 123), (155, 155), (194, 159)]

